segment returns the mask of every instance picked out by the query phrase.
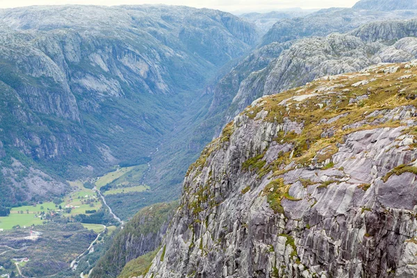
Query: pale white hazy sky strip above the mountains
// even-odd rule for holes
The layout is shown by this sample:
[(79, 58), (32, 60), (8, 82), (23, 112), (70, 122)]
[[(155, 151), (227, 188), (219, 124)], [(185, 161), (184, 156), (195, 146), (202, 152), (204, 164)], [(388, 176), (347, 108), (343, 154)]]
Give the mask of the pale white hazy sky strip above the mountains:
[(115, 6), (123, 4), (165, 3), (168, 5), (184, 5), (197, 8), (215, 8), (234, 12), (267, 11), (279, 8), (330, 8), (351, 7), (358, 0), (0, 0), (0, 8), (14, 8), (31, 5), (63, 5), (91, 4)]

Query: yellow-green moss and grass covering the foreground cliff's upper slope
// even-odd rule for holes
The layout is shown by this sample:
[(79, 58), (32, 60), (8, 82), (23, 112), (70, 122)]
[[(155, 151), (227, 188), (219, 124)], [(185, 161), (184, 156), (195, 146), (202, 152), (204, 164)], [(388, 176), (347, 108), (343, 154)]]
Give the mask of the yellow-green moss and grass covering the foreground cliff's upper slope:
[[(283, 124), (285, 119), (304, 126), (299, 134), (294, 131), (279, 132), (276, 141), (291, 143), (294, 150), (291, 155), (281, 154), (270, 165), (262, 165), (259, 174), (263, 176), (272, 171), (275, 177), (279, 177), (284, 166), (293, 161), (301, 166), (315, 163), (318, 166), (321, 164), (323, 169), (334, 167), (332, 156), (338, 152), (338, 143), (343, 143), (348, 134), (402, 125), (395, 120), (374, 122), (382, 116), (370, 116), (375, 111), (416, 106), (417, 99), (407, 96), (415, 95), (417, 90), (417, 69), (406, 69), (404, 64), (398, 67), (398, 71), (391, 74), (384, 73), (384, 66), (381, 66), (380, 70), (377, 68), (366, 74), (318, 79), (301, 88), (263, 97), (255, 106), (246, 108), (242, 115), (251, 119), (261, 111), (268, 111), (263, 121)], [(413, 77), (399, 79), (406, 74)], [(368, 83), (353, 86), (359, 81)], [(357, 122), (363, 124), (353, 125)], [(328, 160), (330, 163), (323, 165)], [(256, 161), (247, 161), (245, 165), (250, 163)]]

